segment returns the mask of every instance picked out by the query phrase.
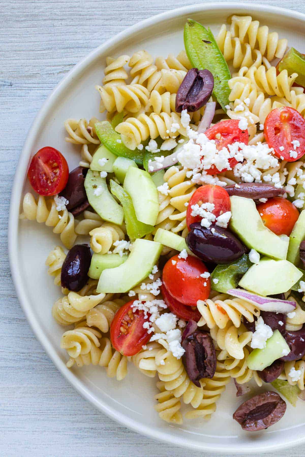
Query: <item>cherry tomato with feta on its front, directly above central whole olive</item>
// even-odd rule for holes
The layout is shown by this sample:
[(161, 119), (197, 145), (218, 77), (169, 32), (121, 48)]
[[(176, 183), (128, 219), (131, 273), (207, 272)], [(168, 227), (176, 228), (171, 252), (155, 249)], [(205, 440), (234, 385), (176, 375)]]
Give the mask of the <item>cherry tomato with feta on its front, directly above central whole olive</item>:
[[(206, 186), (198, 187), (190, 198), (187, 206), (187, 228), (190, 230), (190, 225), (193, 222), (200, 222), (200, 216), (192, 216), (192, 206), (202, 205), (203, 203), (214, 203), (214, 209), (212, 213), (218, 218), (220, 214), (230, 211), (231, 203), (228, 192), (220, 186), (214, 186), (212, 184), (207, 184)], [(216, 221), (214, 221), (215, 223)]]

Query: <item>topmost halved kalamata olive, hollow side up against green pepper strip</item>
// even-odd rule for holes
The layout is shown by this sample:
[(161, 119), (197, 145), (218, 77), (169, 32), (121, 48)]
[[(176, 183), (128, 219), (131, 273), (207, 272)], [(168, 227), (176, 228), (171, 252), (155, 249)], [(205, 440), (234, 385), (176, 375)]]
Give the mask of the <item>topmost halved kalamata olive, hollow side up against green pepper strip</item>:
[(175, 111), (194, 112), (207, 103), (214, 88), (214, 77), (209, 70), (192, 68), (184, 76), (177, 91)]

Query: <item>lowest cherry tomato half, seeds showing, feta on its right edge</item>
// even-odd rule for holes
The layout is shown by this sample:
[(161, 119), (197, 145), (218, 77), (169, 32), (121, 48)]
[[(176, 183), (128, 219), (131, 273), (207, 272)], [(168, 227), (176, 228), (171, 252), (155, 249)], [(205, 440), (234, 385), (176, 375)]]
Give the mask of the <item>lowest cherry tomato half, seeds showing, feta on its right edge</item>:
[(143, 328), (144, 322), (149, 322), (150, 314), (144, 319), (144, 311), (134, 310), (134, 300), (125, 303), (115, 314), (110, 325), (110, 340), (114, 349), (123, 356), (134, 356), (141, 351), (150, 336)]

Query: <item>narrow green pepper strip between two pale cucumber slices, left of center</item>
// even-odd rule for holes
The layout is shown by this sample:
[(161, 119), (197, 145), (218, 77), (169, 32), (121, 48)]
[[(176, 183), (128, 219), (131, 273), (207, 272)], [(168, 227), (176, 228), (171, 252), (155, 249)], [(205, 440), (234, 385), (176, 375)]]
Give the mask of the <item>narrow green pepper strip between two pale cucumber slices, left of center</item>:
[(128, 237), (134, 240), (150, 234), (154, 229), (153, 225), (144, 224), (143, 222), (138, 221), (132, 199), (123, 187), (111, 179), (110, 191), (112, 195), (119, 199), (123, 206)]

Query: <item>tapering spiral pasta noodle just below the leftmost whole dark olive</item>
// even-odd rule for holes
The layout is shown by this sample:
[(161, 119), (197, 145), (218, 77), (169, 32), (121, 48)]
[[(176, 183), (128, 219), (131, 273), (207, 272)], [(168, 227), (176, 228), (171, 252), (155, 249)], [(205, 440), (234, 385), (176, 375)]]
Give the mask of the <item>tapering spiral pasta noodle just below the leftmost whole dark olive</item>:
[(81, 296), (69, 292), (67, 297), (59, 298), (52, 308), (52, 315), (60, 325), (70, 325), (80, 321), (86, 313), (102, 302), (104, 293)]

